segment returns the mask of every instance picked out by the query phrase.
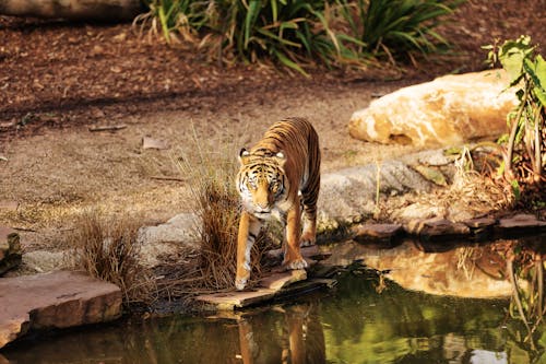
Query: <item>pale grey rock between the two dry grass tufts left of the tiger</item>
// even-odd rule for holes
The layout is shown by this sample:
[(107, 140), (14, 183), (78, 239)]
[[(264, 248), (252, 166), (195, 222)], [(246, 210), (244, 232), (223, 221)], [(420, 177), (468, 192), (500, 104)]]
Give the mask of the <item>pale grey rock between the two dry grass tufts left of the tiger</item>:
[(140, 257), (144, 267), (156, 267), (161, 257), (176, 257), (183, 249), (198, 249), (199, 219), (193, 213), (180, 213), (165, 224), (143, 226), (139, 230)]

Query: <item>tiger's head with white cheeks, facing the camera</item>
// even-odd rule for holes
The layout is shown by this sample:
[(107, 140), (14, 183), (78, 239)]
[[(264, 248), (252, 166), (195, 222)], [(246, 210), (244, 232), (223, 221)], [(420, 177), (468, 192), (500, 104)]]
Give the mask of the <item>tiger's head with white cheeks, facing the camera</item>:
[(258, 150), (253, 153), (241, 149), (240, 168), (237, 174), (237, 190), (245, 210), (258, 219), (268, 220), (276, 202), (285, 199), (288, 186), (283, 152)]

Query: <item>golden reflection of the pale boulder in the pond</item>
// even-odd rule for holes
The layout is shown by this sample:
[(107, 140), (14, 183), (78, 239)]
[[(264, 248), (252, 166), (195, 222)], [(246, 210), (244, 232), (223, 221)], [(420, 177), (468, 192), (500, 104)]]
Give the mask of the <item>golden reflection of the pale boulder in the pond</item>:
[[(505, 297), (510, 282), (502, 278), (505, 262), (488, 246), (463, 246), (427, 253), (430, 247), (405, 243), (392, 249), (373, 249), (347, 242), (335, 246), (327, 263), (346, 266), (355, 260), (407, 290), (461, 297)], [(443, 248), (441, 250), (444, 250)]]

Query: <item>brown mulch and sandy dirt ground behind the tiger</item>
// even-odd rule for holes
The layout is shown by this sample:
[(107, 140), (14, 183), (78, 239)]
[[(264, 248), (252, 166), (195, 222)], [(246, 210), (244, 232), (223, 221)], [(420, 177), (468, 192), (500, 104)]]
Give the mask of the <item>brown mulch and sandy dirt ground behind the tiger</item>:
[[(20, 230), (32, 250), (55, 248), (88, 207), (165, 221), (190, 209), (180, 155), (235, 160), (286, 116), (313, 121), (327, 173), (406, 154), (414, 149), (352, 139), (352, 113), (404, 85), (484, 69), (479, 47), (495, 38), (529, 34), (544, 49), (544, 0), (467, 1), (440, 30), (450, 56), (396, 70), (316, 69), (305, 79), (209, 63), (139, 38), (131, 24), (0, 16), (0, 224)], [(91, 131), (97, 126), (121, 129)], [(168, 148), (143, 149), (144, 137)]]

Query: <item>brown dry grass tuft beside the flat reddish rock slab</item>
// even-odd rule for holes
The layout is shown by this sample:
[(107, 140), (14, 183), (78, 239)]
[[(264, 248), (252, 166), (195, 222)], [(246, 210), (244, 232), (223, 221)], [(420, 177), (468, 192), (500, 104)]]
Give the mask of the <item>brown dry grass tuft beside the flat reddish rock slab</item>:
[(75, 244), (75, 266), (118, 285), (124, 304), (151, 303), (155, 298), (153, 274), (139, 261), (140, 226), (141, 219), (115, 219), (90, 209), (76, 219), (69, 237)]

